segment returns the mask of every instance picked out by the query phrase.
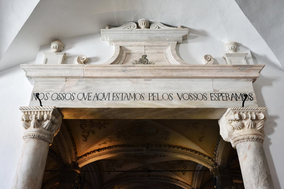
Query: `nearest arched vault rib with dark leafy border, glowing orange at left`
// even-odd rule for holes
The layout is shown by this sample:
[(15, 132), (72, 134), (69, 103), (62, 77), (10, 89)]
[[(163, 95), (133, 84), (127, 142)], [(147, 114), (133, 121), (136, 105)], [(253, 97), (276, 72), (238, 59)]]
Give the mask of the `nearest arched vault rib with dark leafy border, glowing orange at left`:
[(108, 146), (104, 148), (99, 148), (91, 152), (85, 153), (77, 157), (77, 162), (79, 167), (83, 167), (88, 163), (102, 160), (110, 157), (115, 157), (118, 155), (133, 155), (139, 153), (157, 153), (160, 155), (168, 155), (173, 157), (178, 157), (184, 160), (191, 160), (197, 162), (205, 167), (211, 168), (215, 163), (214, 160), (196, 150), (175, 146), (170, 144), (119, 144)]

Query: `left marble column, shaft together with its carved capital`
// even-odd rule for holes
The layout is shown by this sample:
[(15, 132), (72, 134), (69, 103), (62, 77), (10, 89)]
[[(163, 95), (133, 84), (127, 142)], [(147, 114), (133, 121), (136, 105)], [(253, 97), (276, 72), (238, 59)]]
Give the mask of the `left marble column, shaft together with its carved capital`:
[(40, 189), (49, 146), (62, 116), (54, 106), (20, 107), (23, 113), (23, 147), (12, 189)]

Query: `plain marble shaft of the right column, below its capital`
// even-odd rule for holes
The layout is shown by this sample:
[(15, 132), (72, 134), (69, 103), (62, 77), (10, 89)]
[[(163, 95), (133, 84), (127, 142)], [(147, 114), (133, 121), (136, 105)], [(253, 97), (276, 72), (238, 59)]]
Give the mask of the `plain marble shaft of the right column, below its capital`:
[(262, 143), (259, 141), (241, 142), (236, 145), (236, 148), (245, 188), (273, 189)]

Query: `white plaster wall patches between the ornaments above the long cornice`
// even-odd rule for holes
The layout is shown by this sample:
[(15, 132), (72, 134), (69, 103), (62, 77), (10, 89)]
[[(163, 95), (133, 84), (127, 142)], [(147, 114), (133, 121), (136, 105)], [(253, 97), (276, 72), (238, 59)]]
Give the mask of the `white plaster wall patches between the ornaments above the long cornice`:
[[(101, 34), (91, 34), (80, 37), (62, 40), (67, 58), (64, 64), (78, 64), (77, 57), (86, 55), (86, 64), (102, 64), (109, 60), (114, 53), (114, 46), (101, 40)], [(222, 58), (227, 53), (224, 48), (225, 43), (216, 39), (198, 34), (189, 34), (188, 40), (183, 40), (176, 49), (178, 55), (188, 64), (203, 64), (204, 55), (210, 54), (214, 58), (214, 64), (226, 64)], [(35, 63), (43, 64), (43, 52), (51, 52), (50, 44), (40, 47)], [(246, 60), (248, 64), (254, 64), (250, 50), (242, 45), (238, 48), (240, 53), (248, 53)]]

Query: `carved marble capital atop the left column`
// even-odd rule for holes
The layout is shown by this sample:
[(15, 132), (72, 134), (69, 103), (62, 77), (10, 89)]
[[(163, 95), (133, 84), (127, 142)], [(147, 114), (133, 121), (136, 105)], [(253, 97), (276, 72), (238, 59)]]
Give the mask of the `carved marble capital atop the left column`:
[(62, 116), (55, 106), (22, 106), (23, 139), (42, 139), (51, 145), (59, 132)]

